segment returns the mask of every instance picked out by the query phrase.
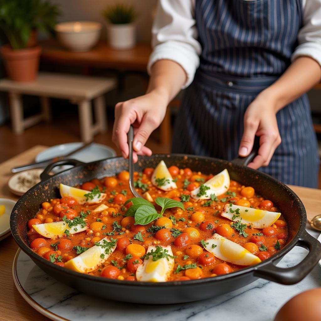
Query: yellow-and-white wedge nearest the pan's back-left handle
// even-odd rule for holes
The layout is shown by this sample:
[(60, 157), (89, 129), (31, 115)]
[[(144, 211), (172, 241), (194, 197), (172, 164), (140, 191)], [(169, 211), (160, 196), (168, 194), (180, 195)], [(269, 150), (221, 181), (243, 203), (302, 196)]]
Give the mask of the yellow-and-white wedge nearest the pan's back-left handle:
[(106, 198), (105, 193), (100, 191), (95, 192), (94, 190), (89, 192), (84, 189), (71, 187), (68, 185), (60, 184), (59, 191), (61, 197), (72, 196), (79, 204), (98, 204)]

